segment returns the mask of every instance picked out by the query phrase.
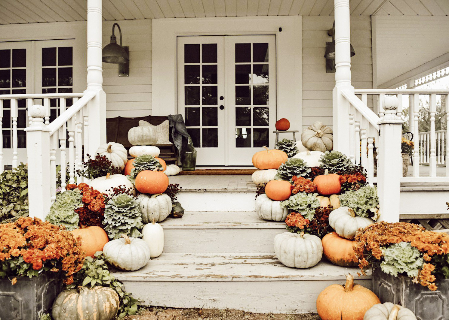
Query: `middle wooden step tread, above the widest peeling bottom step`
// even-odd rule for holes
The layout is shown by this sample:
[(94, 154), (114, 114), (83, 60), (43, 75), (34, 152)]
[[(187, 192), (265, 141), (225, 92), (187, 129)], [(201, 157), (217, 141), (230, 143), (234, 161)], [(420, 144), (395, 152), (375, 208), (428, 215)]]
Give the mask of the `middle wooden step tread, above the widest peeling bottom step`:
[(255, 212), (185, 212), (159, 222), (164, 229), (285, 229), (285, 223), (262, 220)]

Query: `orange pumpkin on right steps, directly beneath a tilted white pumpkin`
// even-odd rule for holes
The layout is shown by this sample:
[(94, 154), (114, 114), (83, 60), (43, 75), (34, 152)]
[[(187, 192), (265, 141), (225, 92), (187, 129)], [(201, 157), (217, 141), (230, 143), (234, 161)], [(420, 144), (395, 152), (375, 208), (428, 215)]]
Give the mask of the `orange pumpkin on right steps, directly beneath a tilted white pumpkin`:
[(357, 267), (355, 241), (341, 238), (336, 232), (326, 234), (322, 239), (323, 254), (326, 258), (341, 267)]

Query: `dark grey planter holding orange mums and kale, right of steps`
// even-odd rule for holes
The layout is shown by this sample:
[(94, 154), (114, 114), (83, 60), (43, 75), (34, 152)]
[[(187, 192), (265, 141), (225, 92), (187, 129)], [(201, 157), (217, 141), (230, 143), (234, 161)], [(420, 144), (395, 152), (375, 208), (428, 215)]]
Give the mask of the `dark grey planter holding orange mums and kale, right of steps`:
[(372, 282), (381, 303), (398, 303), (409, 308), (418, 320), (449, 320), (449, 279), (437, 282), (438, 290), (431, 291), (409, 277), (393, 277), (376, 268)]

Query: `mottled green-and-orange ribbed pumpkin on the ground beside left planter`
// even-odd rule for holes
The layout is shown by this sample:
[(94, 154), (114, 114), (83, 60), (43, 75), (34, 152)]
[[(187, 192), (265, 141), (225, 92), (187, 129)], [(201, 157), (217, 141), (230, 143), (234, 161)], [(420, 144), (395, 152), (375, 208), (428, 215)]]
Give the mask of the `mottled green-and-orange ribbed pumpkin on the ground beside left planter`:
[(111, 288), (79, 286), (58, 294), (52, 316), (54, 320), (111, 320), (119, 311), (119, 304), (119, 295)]

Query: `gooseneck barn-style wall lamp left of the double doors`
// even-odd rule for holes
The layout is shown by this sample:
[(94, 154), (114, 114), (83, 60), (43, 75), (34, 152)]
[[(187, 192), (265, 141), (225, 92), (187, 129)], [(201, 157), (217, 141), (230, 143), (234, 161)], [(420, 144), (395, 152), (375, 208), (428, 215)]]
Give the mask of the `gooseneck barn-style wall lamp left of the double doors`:
[[(115, 26), (119, 28), (120, 44), (114, 35)], [(119, 24), (112, 25), (111, 42), (103, 48), (103, 62), (119, 64), (119, 77), (129, 76), (129, 52), (128, 47), (122, 47), (122, 30)]]

